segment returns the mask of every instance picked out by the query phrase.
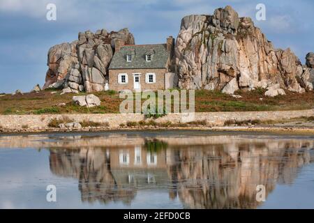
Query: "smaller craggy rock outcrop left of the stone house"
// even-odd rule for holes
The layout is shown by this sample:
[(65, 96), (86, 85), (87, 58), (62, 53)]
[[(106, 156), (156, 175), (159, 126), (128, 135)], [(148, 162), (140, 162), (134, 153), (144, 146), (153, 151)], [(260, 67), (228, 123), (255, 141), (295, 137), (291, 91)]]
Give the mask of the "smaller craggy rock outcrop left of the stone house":
[(96, 33), (79, 33), (78, 40), (73, 43), (50, 48), (43, 89), (66, 89), (63, 93), (103, 91), (117, 41), (123, 45), (135, 44), (128, 29), (110, 33), (102, 29)]

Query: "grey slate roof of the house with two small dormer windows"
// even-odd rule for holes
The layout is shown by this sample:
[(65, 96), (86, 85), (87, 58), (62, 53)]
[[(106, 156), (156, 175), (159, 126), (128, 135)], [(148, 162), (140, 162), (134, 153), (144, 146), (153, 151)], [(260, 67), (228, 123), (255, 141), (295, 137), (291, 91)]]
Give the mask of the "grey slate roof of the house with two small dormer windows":
[[(146, 55), (151, 54), (151, 61), (146, 61)], [(126, 61), (126, 55), (132, 55), (132, 61)], [(109, 70), (166, 68), (170, 52), (166, 44), (126, 45), (114, 53)]]

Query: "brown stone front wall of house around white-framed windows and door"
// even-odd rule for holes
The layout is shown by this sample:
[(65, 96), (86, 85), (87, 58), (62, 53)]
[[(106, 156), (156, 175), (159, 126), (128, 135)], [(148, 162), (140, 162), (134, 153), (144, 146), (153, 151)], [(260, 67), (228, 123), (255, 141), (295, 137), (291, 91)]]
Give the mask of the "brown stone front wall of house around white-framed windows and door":
[[(145, 82), (145, 75), (147, 72), (154, 72), (156, 75), (156, 83), (147, 84)], [(134, 77), (133, 73), (139, 73), (140, 75), (140, 85), (141, 90), (152, 90), (157, 91), (160, 89), (165, 89), (165, 72), (166, 69), (125, 69), (125, 70), (109, 70), (109, 89), (114, 91), (123, 91), (123, 90), (134, 90)], [(118, 75), (120, 73), (126, 73), (128, 75), (127, 84), (118, 83)]]

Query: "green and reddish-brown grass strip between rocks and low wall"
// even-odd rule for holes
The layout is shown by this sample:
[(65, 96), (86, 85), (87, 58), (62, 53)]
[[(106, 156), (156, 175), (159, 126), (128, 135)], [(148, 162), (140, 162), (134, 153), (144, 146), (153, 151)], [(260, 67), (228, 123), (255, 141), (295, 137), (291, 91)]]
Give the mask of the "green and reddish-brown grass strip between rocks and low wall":
[[(56, 91), (56, 90), (55, 90)], [(264, 96), (264, 89), (255, 91), (237, 91), (242, 98), (233, 98), (220, 91), (195, 91), (195, 112), (246, 112), (246, 111), (281, 111), (313, 109), (314, 92), (303, 94), (287, 91), (287, 95), (269, 98)], [(24, 95), (4, 95), (0, 97), (0, 114), (108, 114), (119, 113), (123, 99), (116, 91), (96, 92), (101, 100), (99, 107), (87, 108), (72, 102), (74, 93), (60, 95), (61, 91), (24, 93)], [(78, 95), (87, 95), (80, 93)], [(263, 100), (260, 100), (263, 98)], [(145, 100), (143, 100), (144, 102)], [(58, 106), (65, 103), (65, 106)], [(147, 118), (158, 118), (148, 114)]]

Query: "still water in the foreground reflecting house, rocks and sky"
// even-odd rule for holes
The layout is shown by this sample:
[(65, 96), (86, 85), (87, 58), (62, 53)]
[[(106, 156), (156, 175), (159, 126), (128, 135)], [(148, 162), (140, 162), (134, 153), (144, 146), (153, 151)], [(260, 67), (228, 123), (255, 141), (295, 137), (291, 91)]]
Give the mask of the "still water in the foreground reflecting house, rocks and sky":
[[(47, 202), (47, 185), (57, 202)], [(314, 208), (314, 137), (0, 135), (0, 208)]]

